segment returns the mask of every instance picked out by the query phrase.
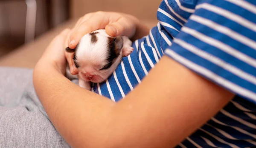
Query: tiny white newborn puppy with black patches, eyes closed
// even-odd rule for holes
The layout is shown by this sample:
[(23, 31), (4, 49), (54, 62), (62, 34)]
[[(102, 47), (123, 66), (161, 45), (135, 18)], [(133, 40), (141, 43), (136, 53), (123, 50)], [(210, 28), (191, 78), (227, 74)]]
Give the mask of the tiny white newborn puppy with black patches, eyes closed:
[[(134, 50), (131, 45), (128, 37), (110, 37), (100, 29), (84, 35), (75, 49), (67, 47), (67, 52), (75, 52), (73, 60), (78, 70), (79, 86), (90, 90), (91, 82), (101, 83), (108, 79), (122, 57)], [(70, 74), (69, 67), (66, 74), (70, 78), (76, 77)]]

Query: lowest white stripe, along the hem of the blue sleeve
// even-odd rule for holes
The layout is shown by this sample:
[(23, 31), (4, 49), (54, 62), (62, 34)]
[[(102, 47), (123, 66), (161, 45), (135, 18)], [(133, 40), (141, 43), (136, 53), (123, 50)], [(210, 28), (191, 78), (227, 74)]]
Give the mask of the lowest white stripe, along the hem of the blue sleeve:
[(199, 66), (195, 63), (192, 63), (191, 61), (187, 60), (184, 57), (181, 57), (180, 55), (176, 54), (174, 51), (170, 50), (170, 49), (166, 49), (166, 54), (169, 54), (172, 58), (174, 58), (175, 60), (179, 61), (180, 63), (186, 65), (187, 67), (193, 69), (194, 71), (205, 75), (206, 77), (214, 80), (217, 83), (220, 83), (221, 85), (223, 85), (224, 87), (229, 88), (231, 91), (234, 91), (244, 97), (250, 98), (251, 100), (253, 100), (254, 102), (256, 102), (256, 94), (252, 91), (249, 91), (245, 88), (240, 87), (239, 85), (236, 85), (235, 83), (232, 83), (220, 76), (218, 76), (217, 74), (213, 73), (212, 71), (209, 71), (208, 69)]

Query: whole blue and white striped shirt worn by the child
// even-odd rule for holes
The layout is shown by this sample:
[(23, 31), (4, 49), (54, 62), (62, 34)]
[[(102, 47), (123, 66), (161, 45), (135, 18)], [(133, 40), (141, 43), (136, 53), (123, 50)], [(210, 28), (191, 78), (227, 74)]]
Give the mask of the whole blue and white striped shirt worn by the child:
[(118, 101), (166, 54), (236, 94), (177, 147), (256, 147), (256, 0), (163, 0), (157, 19), (92, 90)]

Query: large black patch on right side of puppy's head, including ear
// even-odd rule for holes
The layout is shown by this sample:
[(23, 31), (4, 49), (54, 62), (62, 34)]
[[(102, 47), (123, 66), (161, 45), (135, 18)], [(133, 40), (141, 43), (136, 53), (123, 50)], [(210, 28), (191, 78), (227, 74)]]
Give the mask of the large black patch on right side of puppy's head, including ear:
[(111, 67), (113, 61), (120, 55), (121, 49), (123, 46), (122, 37), (108, 37), (107, 41), (107, 64), (103, 66), (100, 70), (105, 70)]

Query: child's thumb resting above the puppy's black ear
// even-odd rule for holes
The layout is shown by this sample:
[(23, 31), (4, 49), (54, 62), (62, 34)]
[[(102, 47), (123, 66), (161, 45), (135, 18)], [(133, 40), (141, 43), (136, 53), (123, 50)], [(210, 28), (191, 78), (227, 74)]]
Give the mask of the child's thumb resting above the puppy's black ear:
[(108, 24), (105, 27), (106, 33), (111, 37), (116, 36), (127, 36), (129, 38), (133, 37), (136, 31), (136, 23), (131, 22), (125, 17), (121, 17), (117, 22)]

